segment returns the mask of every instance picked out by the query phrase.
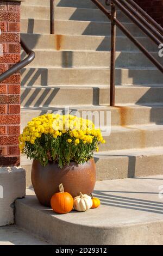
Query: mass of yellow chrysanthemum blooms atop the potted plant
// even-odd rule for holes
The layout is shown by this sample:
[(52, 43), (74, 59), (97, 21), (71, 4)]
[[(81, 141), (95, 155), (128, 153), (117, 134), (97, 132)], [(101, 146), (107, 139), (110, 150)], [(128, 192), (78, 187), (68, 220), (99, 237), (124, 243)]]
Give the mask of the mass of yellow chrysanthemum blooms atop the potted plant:
[[(95, 129), (95, 125), (91, 120), (78, 118), (74, 115), (60, 115), (60, 114), (44, 114), (33, 118), (24, 127), (22, 135), (19, 137), (20, 149), (23, 151), (26, 147), (26, 142), (35, 143), (36, 138), (41, 138), (44, 135), (52, 135), (53, 138), (64, 136), (74, 138), (75, 145), (82, 141), (84, 144), (105, 143), (100, 129)], [(72, 139), (67, 140), (68, 143)]]

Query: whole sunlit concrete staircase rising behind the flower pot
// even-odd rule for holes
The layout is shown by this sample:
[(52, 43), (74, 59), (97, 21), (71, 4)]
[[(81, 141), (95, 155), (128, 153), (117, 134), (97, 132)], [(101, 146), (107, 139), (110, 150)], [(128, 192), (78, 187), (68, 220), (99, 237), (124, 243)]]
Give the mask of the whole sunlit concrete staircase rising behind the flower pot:
[[(100, 153), (95, 155), (97, 180), (162, 174), (163, 76), (161, 72), (117, 29), (116, 107), (109, 107), (110, 22), (90, 0), (56, 0), (55, 5), (55, 35), (50, 35), (49, 0), (22, 2), (22, 37), (34, 49), (36, 58), (21, 72), (21, 130), (32, 117), (43, 113), (55, 113), (58, 110), (62, 113), (65, 106), (70, 106), (73, 113), (82, 110), (110, 111), (111, 135), (105, 138), (106, 144), (103, 144)], [(117, 11), (117, 16), (137, 40), (163, 63), (153, 42), (121, 11)], [(23, 57), (25, 57), (24, 53), (22, 53)], [(26, 169), (27, 187), (31, 186), (31, 164), (32, 161), (22, 156), (21, 166)], [(105, 184), (105, 181), (102, 182)], [(110, 183), (107, 182), (109, 188)], [(134, 188), (134, 182), (135, 179), (131, 181), (130, 191)], [(143, 179), (143, 182), (142, 189), (146, 179)], [(120, 190), (123, 186), (126, 186), (126, 182), (120, 185)], [(116, 187), (114, 189), (116, 190)], [(137, 189), (139, 191), (139, 188)], [(100, 190), (103, 190), (102, 187)], [(16, 203), (18, 216), (16, 222), (20, 225), (27, 220), (27, 217), (27, 223), (32, 221), (31, 211), (38, 216), (35, 217), (36, 221), (44, 220), (44, 217), (41, 217), (43, 208), (37, 204), (34, 195), (31, 195), (32, 192), (28, 192), (29, 197)], [(151, 194), (148, 194), (146, 199), (150, 200), (150, 197)], [(24, 208), (28, 211), (25, 212)], [(116, 214), (117, 209), (113, 207), (112, 211)], [(118, 212), (121, 217), (121, 208)], [(47, 213), (53, 216), (48, 210)], [(106, 208), (105, 214), (108, 215)], [(131, 215), (132, 211), (129, 218)], [(80, 216), (82, 221), (86, 215)], [(97, 218), (98, 216), (101, 216), (100, 210)], [(47, 217), (49, 221), (51, 217)], [(55, 217), (53, 219), (56, 224)], [(137, 224), (144, 223), (145, 217), (140, 217), (142, 218), (140, 223), (138, 218)], [(66, 220), (64, 218), (66, 217), (57, 217), (62, 221)], [(151, 216), (150, 222), (152, 221), (155, 221), (155, 215)], [(131, 225), (131, 222), (124, 223)], [(99, 227), (100, 223), (99, 221)], [(71, 223), (71, 227), (73, 224)], [(109, 226), (107, 227), (109, 229)], [(44, 227), (40, 228), (41, 232), (43, 229)], [(46, 232), (50, 231), (46, 230)], [(45, 237), (52, 238), (48, 235)], [(53, 238), (55, 240), (55, 237)], [(152, 243), (152, 237), (150, 239)], [(61, 241), (57, 242), (61, 244)], [(157, 243), (159, 241), (161, 240)], [(102, 240), (98, 242), (101, 243)], [(112, 244), (121, 242), (129, 243), (128, 240), (124, 242), (117, 239)], [(70, 241), (67, 243), (70, 244)]]

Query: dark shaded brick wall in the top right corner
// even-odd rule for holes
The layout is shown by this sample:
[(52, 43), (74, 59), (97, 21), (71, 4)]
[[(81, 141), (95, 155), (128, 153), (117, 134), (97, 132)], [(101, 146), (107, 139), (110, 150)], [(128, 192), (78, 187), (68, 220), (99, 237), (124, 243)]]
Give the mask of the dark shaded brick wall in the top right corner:
[(163, 27), (163, 0), (135, 0), (135, 2)]

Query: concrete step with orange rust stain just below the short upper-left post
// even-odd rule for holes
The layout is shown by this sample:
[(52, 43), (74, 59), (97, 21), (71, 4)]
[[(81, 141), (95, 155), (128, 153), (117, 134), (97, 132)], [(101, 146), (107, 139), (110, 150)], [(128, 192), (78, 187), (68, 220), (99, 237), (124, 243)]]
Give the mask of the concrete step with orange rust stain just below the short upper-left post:
[[(27, 29), (27, 27), (26, 27)], [(21, 34), (27, 45), (33, 49), (53, 49), (70, 51), (110, 51), (110, 36), (89, 35), (46, 35)], [(146, 37), (137, 37), (149, 51), (158, 53), (158, 48)], [(138, 51), (126, 36), (117, 36), (117, 51)]]

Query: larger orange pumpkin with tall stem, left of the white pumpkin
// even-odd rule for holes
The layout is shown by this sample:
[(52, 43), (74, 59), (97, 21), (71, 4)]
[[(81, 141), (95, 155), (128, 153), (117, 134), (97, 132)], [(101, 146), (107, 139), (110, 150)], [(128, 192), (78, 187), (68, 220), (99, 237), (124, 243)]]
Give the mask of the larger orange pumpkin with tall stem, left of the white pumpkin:
[(64, 192), (62, 184), (59, 185), (59, 192), (51, 198), (51, 206), (53, 211), (58, 214), (67, 214), (67, 212), (72, 211), (73, 197), (70, 193)]

